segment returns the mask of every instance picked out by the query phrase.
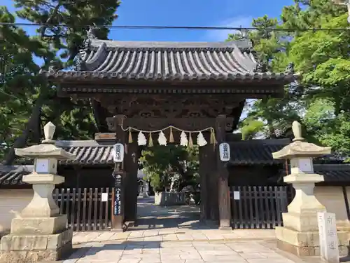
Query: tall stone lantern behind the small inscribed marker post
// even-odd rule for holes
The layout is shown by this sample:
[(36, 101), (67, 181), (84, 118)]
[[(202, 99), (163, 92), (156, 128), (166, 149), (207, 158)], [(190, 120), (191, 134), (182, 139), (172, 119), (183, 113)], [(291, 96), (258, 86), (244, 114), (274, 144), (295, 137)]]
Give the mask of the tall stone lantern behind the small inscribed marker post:
[[(290, 160), (290, 175), (283, 178), (292, 184), (295, 197), (288, 205), (288, 213), (283, 213), (283, 227), (276, 227), (279, 248), (300, 256), (320, 255), (318, 236), (318, 212), (325, 207), (314, 196), (316, 182), (323, 182), (323, 175), (314, 173), (313, 157), (330, 154), (330, 147), (319, 147), (304, 142), (301, 126), (293, 122), (295, 139), (280, 151), (272, 153), (274, 159)], [(340, 255), (347, 253), (347, 233), (338, 231)]]

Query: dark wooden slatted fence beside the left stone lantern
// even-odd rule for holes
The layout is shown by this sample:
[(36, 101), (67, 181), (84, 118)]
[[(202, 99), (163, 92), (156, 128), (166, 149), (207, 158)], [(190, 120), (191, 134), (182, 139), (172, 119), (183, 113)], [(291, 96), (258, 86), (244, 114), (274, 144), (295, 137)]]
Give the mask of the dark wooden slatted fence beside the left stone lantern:
[[(102, 193), (108, 196), (102, 201)], [(53, 199), (59, 212), (68, 217), (73, 231), (101, 231), (111, 228), (113, 188), (55, 189)]]

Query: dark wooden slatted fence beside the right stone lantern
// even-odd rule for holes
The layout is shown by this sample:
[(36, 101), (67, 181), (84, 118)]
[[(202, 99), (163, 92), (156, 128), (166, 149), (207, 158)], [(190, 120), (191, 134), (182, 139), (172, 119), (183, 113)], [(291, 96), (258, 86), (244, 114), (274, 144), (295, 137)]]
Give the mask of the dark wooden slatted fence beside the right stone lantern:
[(283, 226), (282, 213), (293, 199), (291, 187), (232, 187), (234, 229), (274, 229)]

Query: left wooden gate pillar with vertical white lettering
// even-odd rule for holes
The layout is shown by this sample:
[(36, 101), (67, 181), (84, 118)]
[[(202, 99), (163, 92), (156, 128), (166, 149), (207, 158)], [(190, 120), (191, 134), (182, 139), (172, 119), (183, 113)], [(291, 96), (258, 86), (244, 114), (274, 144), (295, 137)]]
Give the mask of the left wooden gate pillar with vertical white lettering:
[[(121, 143), (125, 145), (126, 133), (123, 130), (123, 121), (125, 119), (124, 115), (117, 115), (113, 118), (114, 127), (116, 131), (116, 143)], [(113, 231), (123, 231), (124, 225), (124, 208), (125, 208), (125, 198), (123, 191), (123, 179), (125, 177), (124, 162), (116, 163), (113, 171), (114, 179), (114, 191), (112, 198), (112, 229)]]

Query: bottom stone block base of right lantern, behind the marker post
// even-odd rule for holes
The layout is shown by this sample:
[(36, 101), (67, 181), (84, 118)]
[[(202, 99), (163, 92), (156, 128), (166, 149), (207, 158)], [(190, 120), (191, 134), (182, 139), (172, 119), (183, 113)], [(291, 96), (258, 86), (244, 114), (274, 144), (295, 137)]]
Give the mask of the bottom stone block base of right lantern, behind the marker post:
[[(337, 231), (339, 256), (348, 255), (348, 232)], [(277, 247), (300, 257), (319, 256), (318, 231), (300, 232), (286, 227), (276, 227)]]

